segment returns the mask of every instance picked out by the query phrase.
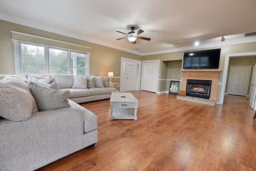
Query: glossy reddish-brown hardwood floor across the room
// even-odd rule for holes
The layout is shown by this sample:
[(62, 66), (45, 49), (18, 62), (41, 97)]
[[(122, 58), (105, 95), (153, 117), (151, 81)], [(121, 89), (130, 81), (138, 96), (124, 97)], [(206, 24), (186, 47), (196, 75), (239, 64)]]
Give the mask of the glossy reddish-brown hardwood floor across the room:
[(109, 120), (109, 99), (81, 104), (98, 116), (98, 142), (38, 171), (256, 171), (256, 121), (249, 98), (224, 105), (132, 91), (138, 120)]

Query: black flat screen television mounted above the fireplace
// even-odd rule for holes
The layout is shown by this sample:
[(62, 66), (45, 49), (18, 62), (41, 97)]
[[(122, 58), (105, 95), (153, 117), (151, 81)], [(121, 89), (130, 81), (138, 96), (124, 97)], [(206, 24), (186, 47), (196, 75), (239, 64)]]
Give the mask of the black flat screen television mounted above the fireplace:
[(218, 69), (220, 49), (185, 52), (183, 69)]

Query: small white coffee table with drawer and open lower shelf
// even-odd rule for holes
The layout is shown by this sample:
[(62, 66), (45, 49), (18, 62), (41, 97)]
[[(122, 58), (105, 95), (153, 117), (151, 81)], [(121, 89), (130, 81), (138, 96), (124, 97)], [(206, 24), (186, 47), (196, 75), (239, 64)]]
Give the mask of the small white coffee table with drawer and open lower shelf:
[(138, 100), (132, 93), (112, 92), (110, 97), (110, 120), (137, 120)]

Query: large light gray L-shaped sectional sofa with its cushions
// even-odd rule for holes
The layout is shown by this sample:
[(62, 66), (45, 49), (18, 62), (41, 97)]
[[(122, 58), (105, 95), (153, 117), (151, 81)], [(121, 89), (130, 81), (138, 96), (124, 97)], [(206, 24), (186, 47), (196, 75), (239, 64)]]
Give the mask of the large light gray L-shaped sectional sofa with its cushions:
[(72, 88), (68, 78), (74, 76), (57, 75), (52, 84), (0, 80), (0, 170), (32, 171), (97, 142), (97, 116), (77, 103), (109, 98), (115, 89)]

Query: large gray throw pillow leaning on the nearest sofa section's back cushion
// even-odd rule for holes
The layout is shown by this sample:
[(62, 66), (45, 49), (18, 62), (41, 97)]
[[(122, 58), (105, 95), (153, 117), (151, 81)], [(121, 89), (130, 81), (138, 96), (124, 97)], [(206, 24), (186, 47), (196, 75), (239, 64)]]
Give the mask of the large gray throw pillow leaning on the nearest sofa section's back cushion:
[(70, 107), (68, 102), (70, 91), (42, 87), (34, 82), (29, 82), (29, 86), (32, 95), (36, 100), (38, 111)]

